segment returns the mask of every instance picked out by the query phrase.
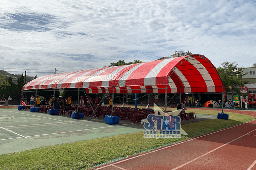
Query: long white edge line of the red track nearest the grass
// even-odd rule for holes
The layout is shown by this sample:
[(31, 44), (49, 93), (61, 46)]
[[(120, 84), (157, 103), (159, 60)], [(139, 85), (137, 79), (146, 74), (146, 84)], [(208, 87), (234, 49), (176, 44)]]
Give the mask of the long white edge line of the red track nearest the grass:
[[(255, 118), (255, 117), (254, 117)], [(255, 121), (255, 120), (251, 120), (250, 122), (252, 121)], [(154, 151), (151, 151), (151, 152), (147, 152), (147, 153), (144, 153), (144, 154), (141, 154), (141, 155), (138, 155), (138, 156), (134, 156), (134, 157), (131, 157), (131, 158), (128, 158), (128, 159), (124, 159), (124, 160), (120, 160), (116, 163), (113, 163), (113, 164), (109, 164), (109, 165), (105, 165), (103, 167), (99, 167), (95, 170), (98, 170), (98, 169), (102, 169), (102, 168), (105, 168), (105, 167), (109, 167), (109, 166), (112, 166), (112, 165), (115, 165), (115, 164), (119, 164), (119, 163), (122, 163), (122, 162), (125, 162), (127, 160), (130, 160), (130, 159), (134, 159), (134, 158), (137, 158), (137, 157), (140, 157), (140, 156), (144, 156), (144, 155), (147, 155), (147, 154), (150, 154), (150, 153), (153, 153), (153, 152), (157, 152), (157, 151), (160, 151), (160, 150), (163, 150), (163, 149), (166, 149), (166, 148), (170, 148), (170, 147), (173, 147), (173, 146), (176, 146), (176, 145), (180, 145), (182, 143), (185, 143), (185, 142), (188, 142), (188, 141), (191, 141), (191, 140), (194, 140), (194, 139), (197, 139), (197, 138), (201, 138), (201, 137), (204, 137), (204, 136), (208, 136), (208, 135), (211, 135), (211, 134), (214, 134), (214, 133), (217, 133), (217, 132), (221, 132), (221, 131), (224, 131), (224, 130), (227, 130), (227, 129), (231, 129), (231, 128), (234, 128), (236, 126), (240, 126), (242, 124), (246, 124), (246, 123), (250, 123), (250, 122), (245, 122), (245, 123), (241, 123), (241, 124), (238, 124), (238, 125), (234, 125), (232, 127), (229, 127), (229, 128), (226, 128), (226, 129), (222, 129), (222, 130), (219, 130), (219, 131), (216, 131), (216, 132), (212, 132), (212, 133), (209, 133), (209, 134), (206, 134), (206, 135), (202, 135), (202, 136), (198, 136), (196, 138), (192, 138), (192, 139), (189, 139), (189, 140), (186, 140), (186, 141), (183, 141), (183, 142), (179, 142), (179, 143), (175, 143), (174, 145), (170, 145), (168, 147), (163, 147), (163, 148), (160, 148), (160, 149), (157, 149), (157, 150), (154, 150)], [(250, 132), (251, 133), (251, 132)]]

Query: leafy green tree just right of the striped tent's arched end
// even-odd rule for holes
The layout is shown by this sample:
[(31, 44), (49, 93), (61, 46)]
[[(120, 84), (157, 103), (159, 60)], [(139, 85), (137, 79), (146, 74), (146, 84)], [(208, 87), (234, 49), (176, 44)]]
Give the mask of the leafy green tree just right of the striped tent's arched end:
[(222, 67), (218, 67), (217, 71), (225, 86), (225, 91), (231, 91), (232, 95), (234, 93), (238, 94), (240, 87), (244, 86), (244, 83), (247, 83), (247, 81), (242, 81), (241, 79), (247, 73), (244, 73), (242, 68), (237, 68), (238, 64), (236, 62), (226, 61), (221, 63), (221, 65)]

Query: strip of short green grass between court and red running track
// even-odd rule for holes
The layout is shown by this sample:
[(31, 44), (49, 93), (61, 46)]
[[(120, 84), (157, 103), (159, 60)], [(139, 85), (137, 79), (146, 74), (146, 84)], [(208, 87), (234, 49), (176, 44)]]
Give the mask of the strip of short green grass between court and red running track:
[[(201, 112), (207, 112), (207, 114), (214, 115), (217, 115), (218, 112), (195, 109), (194, 111), (200, 114), (202, 114)], [(189, 112), (192, 112), (192, 109), (189, 109)], [(178, 139), (144, 139), (143, 132), (138, 132), (3, 154), (0, 155), (0, 169), (90, 169), (95, 165), (115, 158), (136, 155), (142, 151), (148, 152), (156, 147), (171, 145), (171, 143), (184, 141), (191, 137), (204, 135), (251, 120), (254, 120), (251, 116), (229, 113), (229, 120), (211, 119), (182, 125), (188, 136), (182, 136), (182, 138)]]

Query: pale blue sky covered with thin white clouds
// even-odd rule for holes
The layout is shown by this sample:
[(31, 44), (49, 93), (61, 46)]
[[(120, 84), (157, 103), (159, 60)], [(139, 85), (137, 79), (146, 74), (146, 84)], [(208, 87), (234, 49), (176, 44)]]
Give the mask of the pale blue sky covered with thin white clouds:
[(1, 0), (0, 70), (41, 77), (175, 50), (256, 63), (256, 0)]

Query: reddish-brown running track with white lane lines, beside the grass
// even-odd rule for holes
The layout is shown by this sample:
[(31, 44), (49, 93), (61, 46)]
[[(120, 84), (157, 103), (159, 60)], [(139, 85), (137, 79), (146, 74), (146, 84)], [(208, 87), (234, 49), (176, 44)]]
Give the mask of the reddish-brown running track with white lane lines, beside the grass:
[[(224, 112), (256, 117), (253, 111)], [(119, 160), (96, 170), (256, 170), (255, 164), (256, 120)]]

